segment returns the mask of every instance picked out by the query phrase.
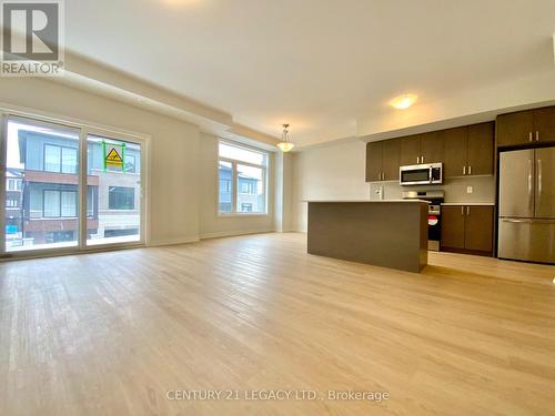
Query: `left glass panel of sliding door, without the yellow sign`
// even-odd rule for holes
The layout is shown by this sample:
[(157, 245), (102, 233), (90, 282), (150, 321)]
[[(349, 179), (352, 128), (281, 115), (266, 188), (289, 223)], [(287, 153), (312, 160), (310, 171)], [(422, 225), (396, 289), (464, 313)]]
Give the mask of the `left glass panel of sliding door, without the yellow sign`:
[(6, 138), (6, 251), (77, 246), (79, 130), (10, 118)]

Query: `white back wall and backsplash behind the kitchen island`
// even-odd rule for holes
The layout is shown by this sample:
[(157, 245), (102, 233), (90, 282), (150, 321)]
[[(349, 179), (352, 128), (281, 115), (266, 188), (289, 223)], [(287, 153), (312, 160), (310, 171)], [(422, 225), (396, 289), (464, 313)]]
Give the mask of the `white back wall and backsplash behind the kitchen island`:
[[(385, 200), (401, 199), (406, 190), (398, 182), (365, 182), (366, 143), (347, 140), (317, 145), (294, 154), (293, 158), (293, 217), (295, 231), (306, 231), (304, 200), (377, 200), (382, 189)], [(473, 193), (466, 193), (467, 186)], [(425, 190), (430, 186), (411, 186)], [(434, 190), (445, 192), (446, 202), (494, 202), (494, 176), (450, 179)]]

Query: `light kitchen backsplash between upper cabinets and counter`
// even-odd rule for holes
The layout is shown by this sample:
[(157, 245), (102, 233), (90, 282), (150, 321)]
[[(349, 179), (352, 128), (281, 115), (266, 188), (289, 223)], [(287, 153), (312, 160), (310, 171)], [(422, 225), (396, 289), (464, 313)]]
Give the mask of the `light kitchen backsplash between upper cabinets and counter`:
[[(468, 193), (468, 186), (472, 193)], [(403, 191), (445, 191), (445, 202), (495, 202), (495, 179), (488, 176), (468, 176), (444, 180), (442, 185), (401, 186), (398, 182), (371, 182), (370, 200), (400, 200)]]

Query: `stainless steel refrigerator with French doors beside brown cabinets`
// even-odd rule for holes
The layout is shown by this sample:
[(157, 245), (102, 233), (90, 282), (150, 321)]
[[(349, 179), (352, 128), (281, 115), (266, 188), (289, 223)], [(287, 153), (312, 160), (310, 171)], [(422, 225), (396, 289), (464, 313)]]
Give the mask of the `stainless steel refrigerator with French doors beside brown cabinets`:
[(500, 154), (498, 256), (555, 263), (555, 148)]

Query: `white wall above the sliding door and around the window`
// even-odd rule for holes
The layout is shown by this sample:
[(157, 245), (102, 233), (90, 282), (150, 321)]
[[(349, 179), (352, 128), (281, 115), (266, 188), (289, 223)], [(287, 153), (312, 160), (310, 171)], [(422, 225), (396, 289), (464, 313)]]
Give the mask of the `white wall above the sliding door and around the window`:
[[(266, 216), (218, 217), (216, 138), (201, 134), (193, 124), (31, 78), (0, 79), (0, 103), (151, 136), (148, 169), (151, 244), (274, 230), (272, 212)], [(270, 177), (273, 182), (273, 176)], [(270, 209), (272, 203), (273, 195)]]

